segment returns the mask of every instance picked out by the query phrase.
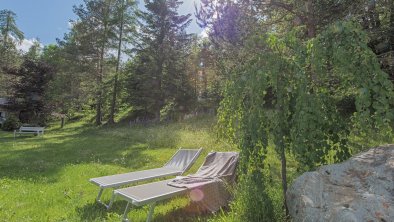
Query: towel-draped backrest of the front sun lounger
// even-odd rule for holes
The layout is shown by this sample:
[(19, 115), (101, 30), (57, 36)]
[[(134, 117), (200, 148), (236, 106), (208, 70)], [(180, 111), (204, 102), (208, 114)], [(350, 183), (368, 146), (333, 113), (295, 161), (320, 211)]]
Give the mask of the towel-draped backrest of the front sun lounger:
[(209, 153), (203, 165), (193, 176), (208, 178), (234, 176), (238, 159), (237, 152)]

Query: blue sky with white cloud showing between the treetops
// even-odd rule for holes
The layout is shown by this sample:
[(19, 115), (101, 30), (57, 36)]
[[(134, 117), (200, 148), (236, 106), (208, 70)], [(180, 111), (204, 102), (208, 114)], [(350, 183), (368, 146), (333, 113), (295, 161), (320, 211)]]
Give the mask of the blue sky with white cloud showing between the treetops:
[[(193, 19), (188, 32), (201, 33), (202, 29), (196, 24), (194, 16), (194, 2), (199, 0), (183, 1), (179, 14), (191, 13)], [(18, 48), (27, 51), (35, 39), (47, 45), (56, 43), (56, 38), (63, 38), (64, 33), (69, 31), (70, 19), (76, 19), (73, 5), (82, 3), (83, 0), (0, 0), (0, 10), (8, 9), (16, 13), (16, 24), (25, 34), (25, 40)]]

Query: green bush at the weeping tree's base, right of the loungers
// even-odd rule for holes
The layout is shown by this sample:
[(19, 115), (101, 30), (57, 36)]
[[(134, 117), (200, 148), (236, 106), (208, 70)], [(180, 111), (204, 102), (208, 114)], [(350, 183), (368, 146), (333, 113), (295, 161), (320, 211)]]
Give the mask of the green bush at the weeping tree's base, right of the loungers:
[(232, 218), (225, 219), (236, 222), (287, 221), (280, 175), (271, 168), (271, 164), (276, 168), (280, 163), (271, 155), (275, 154), (264, 154), (256, 148), (241, 151), (235, 199), (231, 203)]

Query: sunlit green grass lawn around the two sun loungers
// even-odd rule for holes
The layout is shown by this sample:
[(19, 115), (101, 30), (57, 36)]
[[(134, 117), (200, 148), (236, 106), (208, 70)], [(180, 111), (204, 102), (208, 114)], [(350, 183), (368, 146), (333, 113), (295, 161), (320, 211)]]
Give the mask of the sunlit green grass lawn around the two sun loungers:
[[(232, 151), (204, 117), (155, 126), (92, 127), (69, 123), (49, 127), (43, 137), (0, 131), (0, 221), (120, 221), (118, 200), (107, 211), (95, 203), (98, 187), (89, 178), (160, 167), (179, 147), (204, 151), (189, 170), (195, 172), (211, 151)], [(110, 190), (104, 200), (110, 198)], [(131, 221), (144, 221), (148, 207), (134, 208)], [(159, 204), (156, 221), (205, 221), (215, 216), (195, 212), (187, 198)]]

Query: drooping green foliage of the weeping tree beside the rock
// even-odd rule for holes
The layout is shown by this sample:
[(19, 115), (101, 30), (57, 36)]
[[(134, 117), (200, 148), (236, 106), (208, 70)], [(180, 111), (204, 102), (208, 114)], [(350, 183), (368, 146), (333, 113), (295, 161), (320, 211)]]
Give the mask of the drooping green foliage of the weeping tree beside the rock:
[[(283, 38), (269, 34), (252, 39), (251, 46), (263, 45), (263, 51), (235, 69), (226, 84), (219, 123), (242, 150), (245, 179), (240, 190), (264, 184), (261, 173), (248, 180), (246, 172), (261, 168), (270, 139), (278, 155), (288, 150), (302, 166), (313, 169), (348, 158), (353, 130), (391, 132), (393, 84), (368, 48), (365, 33), (352, 22), (342, 22), (305, 43), (296, 36), (290, 32)], [(269, 89), (275, 95), (272, 110), (264, 107)], [(349, 96), (356, 106), (350, 115), (337, 106)], [(255, 202), (243, 197), (238, 201)], [(261, 204), (266, 209), (267, 203)], [(242, 208), (248, 209), (242, 211), (243, 219), (259, 220), (267, 213)]]

